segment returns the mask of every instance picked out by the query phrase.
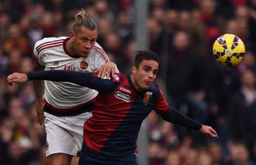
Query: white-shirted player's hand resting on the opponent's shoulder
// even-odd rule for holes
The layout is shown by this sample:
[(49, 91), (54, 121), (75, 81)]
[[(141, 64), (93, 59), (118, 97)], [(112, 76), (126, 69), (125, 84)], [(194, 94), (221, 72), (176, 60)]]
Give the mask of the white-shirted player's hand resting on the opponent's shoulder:
[(101, 77), (101, 79), (105, 76), (110, 79), (110, 74), (112, 74), (112, 77), (115, 77), (115, 63), (107, 62), (102, 64), (100, 69), (95, 70), (94, 73), (98, 73), (98, 77)]

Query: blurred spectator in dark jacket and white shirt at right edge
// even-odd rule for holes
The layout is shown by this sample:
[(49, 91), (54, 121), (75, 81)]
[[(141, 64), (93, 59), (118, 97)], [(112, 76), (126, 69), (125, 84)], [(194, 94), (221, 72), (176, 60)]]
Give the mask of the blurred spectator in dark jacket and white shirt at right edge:
[[(251, 70), (246, 70), (241, 77), (241, 88), (229, 101), (229, 126), (231, 138), (246, 141), (247, 147), (252, 152), (256, 132), (254, 118), (256, 117), (256, 77)], [(250, 131), (250, 132), (248, 132)]]

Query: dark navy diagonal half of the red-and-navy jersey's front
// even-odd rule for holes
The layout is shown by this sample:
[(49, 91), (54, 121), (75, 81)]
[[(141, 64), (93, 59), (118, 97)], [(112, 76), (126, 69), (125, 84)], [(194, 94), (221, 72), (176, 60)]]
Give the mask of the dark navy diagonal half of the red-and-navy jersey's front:
[[(149, 103), (144, 103), (143, 98), (147, 91), (153, 92), (153, 95)], [(155, 85), (151, 85), (147, 91), (137, 93), (129, 112), (105, 142), (100, 155), (111, 156), (112, 159), (120, 161), (136, 162), (134, 152), (142, 121), (154, 109), (160, 94)]]

